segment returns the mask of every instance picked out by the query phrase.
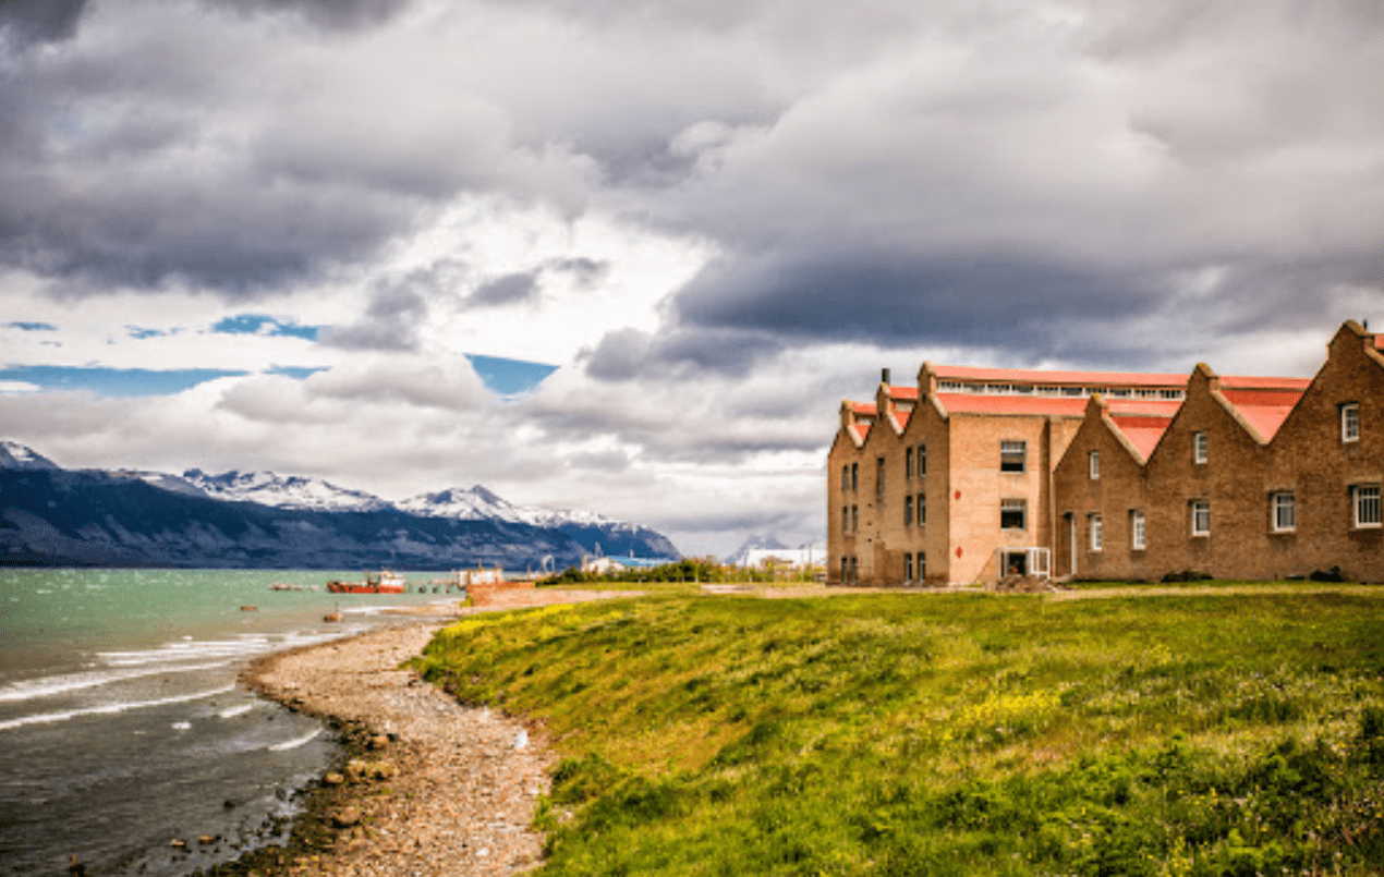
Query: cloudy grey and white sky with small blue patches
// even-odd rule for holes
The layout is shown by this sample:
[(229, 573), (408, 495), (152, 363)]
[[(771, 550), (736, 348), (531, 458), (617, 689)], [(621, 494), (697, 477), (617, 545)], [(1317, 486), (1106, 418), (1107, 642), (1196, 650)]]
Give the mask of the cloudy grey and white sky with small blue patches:
[(0, 437), (821, 544), (882, 367), (1384, 325), (1381, 83), (1360, 0), (0, 0)]

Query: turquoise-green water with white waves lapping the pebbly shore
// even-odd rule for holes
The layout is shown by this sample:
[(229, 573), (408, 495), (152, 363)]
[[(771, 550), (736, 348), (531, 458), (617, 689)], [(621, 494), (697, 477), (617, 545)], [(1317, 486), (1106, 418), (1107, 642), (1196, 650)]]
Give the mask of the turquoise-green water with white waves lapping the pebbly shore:
[[(321, 589), (360, 577), (0, 570), (0, 873), (64, 873), (76, 855), (89, 873), (185, 874), (281, 837), (275, 818), (336, 743), (237, 675), (274, 650), (408, 622), (383, 607), (448, 599)], [(336, 609), (345, 620), (324, 621)]]

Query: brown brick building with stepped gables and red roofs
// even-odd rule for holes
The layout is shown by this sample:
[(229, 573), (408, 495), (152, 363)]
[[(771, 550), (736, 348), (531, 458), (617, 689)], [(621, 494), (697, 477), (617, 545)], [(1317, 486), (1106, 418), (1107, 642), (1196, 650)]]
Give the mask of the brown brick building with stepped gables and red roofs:
[(1384, 581), (1384, 338), (1355, 322), (1312, 379), (925, 362), (840, 416), (832, 582)]

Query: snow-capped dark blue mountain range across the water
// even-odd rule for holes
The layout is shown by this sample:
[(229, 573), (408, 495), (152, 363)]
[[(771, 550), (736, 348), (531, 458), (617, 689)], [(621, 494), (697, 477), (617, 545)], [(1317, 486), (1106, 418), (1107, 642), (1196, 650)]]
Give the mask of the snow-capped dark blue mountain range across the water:
[(561, 569), (597, 542), (612, 555), (678, 556), (646, 527), (513, 506), (479, 486), (396, 505), (268, 472), (64, 470), (0, 443), (6, 566), (516, 570), (551, 556)]

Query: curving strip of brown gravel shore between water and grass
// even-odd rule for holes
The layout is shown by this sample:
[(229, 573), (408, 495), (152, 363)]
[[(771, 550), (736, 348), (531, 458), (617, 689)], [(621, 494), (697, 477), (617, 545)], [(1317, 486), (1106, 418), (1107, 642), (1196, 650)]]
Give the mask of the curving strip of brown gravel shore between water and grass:
[[(486, 610), (620, 596), (631, 592), (529, 591)], [(375, 735), (364, 758), (327, 777), (349, 790), (332, 812), (332, 849), (289, 863), (291, 873), (512, 874), (540, 863), (543, 837), (529, 823), (555, 764), (543, 737), (399, 670), (444, 624), (432, 618), (282, 652), (244, 674), (267, 697)]]

